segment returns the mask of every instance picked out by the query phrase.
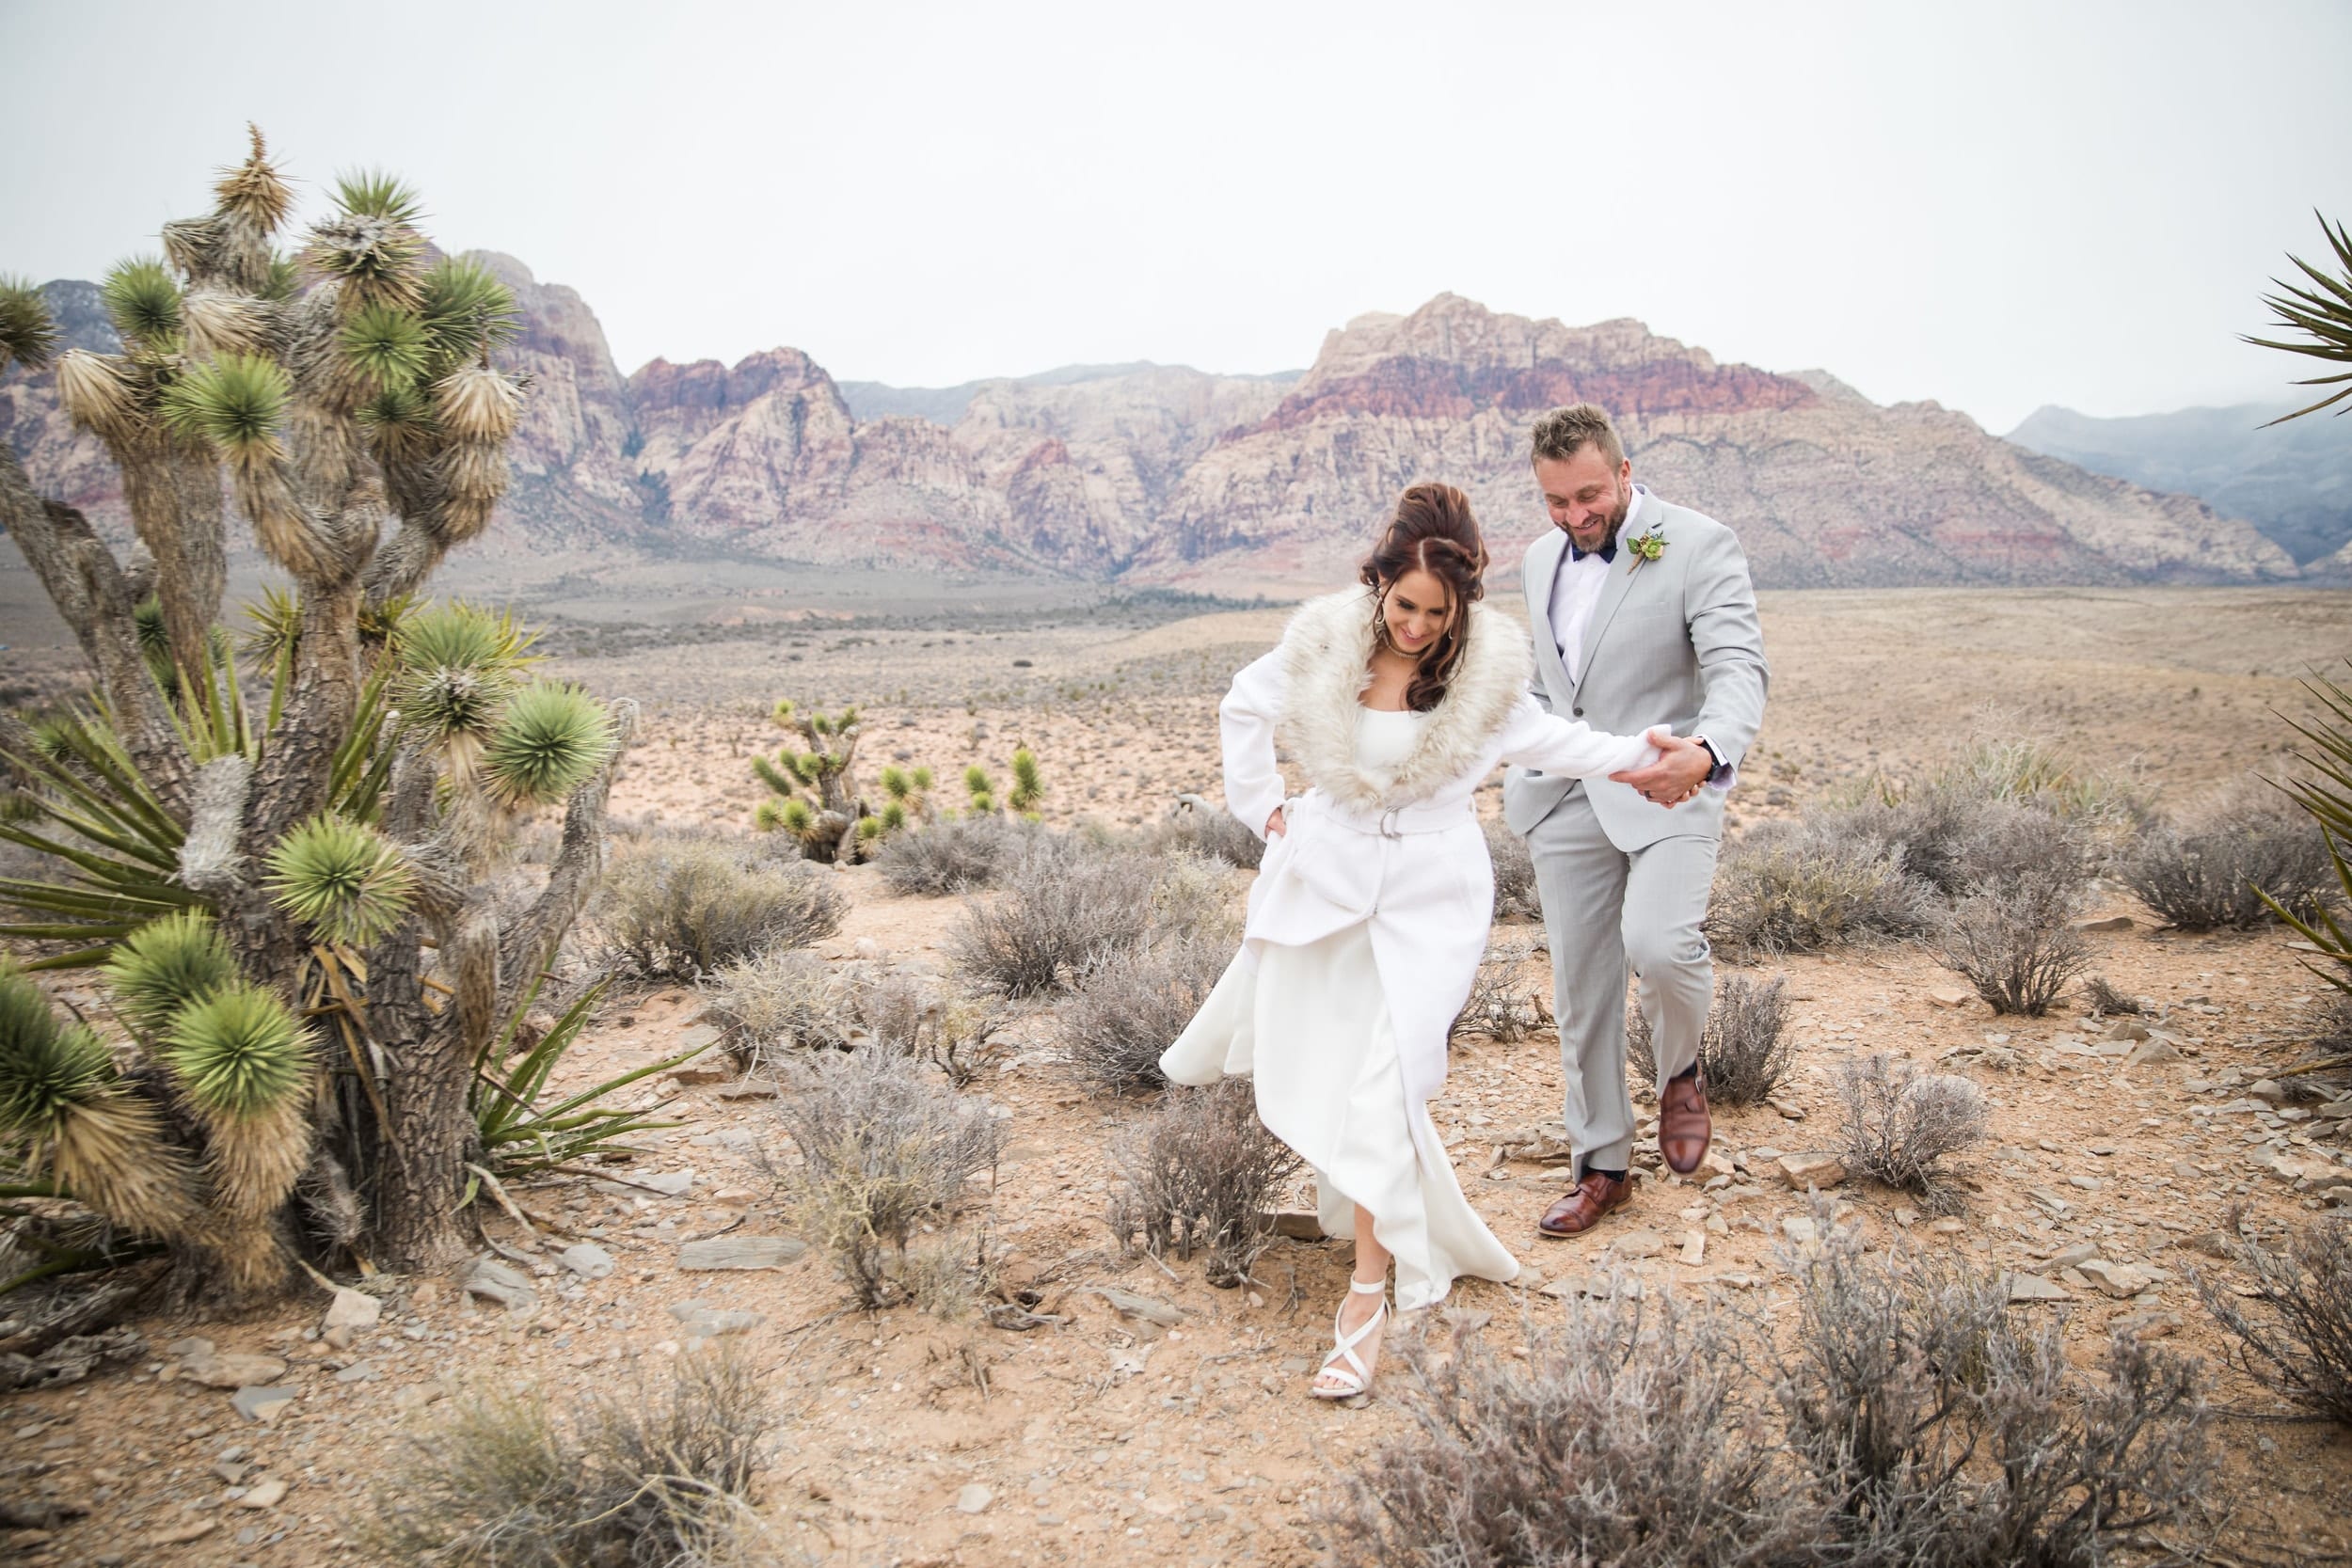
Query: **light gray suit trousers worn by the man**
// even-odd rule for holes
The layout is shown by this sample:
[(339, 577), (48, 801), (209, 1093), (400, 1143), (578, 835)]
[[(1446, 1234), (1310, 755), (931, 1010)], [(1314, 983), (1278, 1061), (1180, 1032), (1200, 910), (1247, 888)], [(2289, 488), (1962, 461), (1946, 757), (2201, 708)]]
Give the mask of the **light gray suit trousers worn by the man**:
[(1698, 1060), (1698, 1037), (1715, 1004), (1715, 959), (1700, 924), (1717, 846), (1712, 837), (1675, 837), (1628, 853), (1602, 832), (1583, 790), (1571, 790), (1526, 835), (1552, 945), (1573, 1180), (1583, 1180), (1585, 1166), (1623, 1171), (1632, 1159), (1628, 966), (1642, 976), (1642, 1016), (1661, 1081)]

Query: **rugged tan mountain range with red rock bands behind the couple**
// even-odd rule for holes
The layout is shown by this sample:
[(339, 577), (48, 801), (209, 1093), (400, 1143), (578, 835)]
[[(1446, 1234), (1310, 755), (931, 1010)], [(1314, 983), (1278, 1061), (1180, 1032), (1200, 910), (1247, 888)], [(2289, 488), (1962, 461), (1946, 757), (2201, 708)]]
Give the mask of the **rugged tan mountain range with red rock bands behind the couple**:
[[(1661, 496), (1731, 524), (1762, 585), (2265, 583), (2249, 522), (2002, 442), (1828, 371), (1719, 364), (1632, 320), (1564, 327), (1439, 294), (1362, 315), (1296, 376), (1063, 367), (960, 388), (837, 383), (795, 348), (623, 376), (574, 289), (510, 256), (532, 393), (489, 557), (757, 555), (1256, 592), (1345, 581), (1416, 480), (1470, 491), (1496, 562), (1550, 527), (1526, 425), (1595, 400)], [(103, 331), (89, 284), (52, 284)], [(111, 336), (111, 334), (108, 334)], [(953, 411), (953, 421), (948, 414)], [(47, 376), (0, 383), (0, 435), (115, 531), (120, 487)]]

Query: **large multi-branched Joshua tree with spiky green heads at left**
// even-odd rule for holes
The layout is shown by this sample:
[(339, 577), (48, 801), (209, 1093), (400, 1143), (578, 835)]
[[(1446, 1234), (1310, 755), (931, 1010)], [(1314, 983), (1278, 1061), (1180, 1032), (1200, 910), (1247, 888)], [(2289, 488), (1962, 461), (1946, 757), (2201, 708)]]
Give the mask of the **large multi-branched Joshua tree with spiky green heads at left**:
[[(122, 468), (129, 559), (0, 442), (0, 524), (96, 675), (68, 719), (0, 719), (33, 818), (0, 835), (71, 877), (0, 884), (49, 917), (5, 933), (75, 943), (28, 969), (103, 961), (129, 1030), (118, 1053), (0, 980), (0, 1140), (19, 1190), (160, 1244), (209, 1300), (278, 1288), (299, 1251), (463, 1251), (475, 1070), (600, 875), (633, 722), (529, 679), (508, 621), (409, 609), (506, 489), (527, 390), (492, 364), (506, 287), (428, 263), (414, 195), (374, 174), (280, 254), (292, 197), (259, 132), (216, 197), (106, 280), (122, 353), (56, 357)], [(54, 346), (40, 296), (0, 287), (0, 371)], [(214, 628), (223, 468), (294, 585), (247, 637), (266, 708)], [(553, 802), (548, 884), (506, 907), (508, 813)]]

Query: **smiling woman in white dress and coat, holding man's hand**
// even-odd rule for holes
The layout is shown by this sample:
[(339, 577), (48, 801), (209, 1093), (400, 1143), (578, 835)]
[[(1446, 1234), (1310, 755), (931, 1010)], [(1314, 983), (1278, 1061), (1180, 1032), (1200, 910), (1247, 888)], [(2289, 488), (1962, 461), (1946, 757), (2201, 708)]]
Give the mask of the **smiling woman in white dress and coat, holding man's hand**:
[[(1484, 571), (1470, 498), (1406, 489), (1364, 585), (1305, 602), (1218, 708), (1225, 804), (1268, 849), (1242, 952), (1160, 1070), (1254, 1074), (1258, 1119), (1315, 1168), (1324, 1232), (1355, 1237), (1319, 1399), (1371, 1385), (1392, 1258), (1399, 1312), (1444, 1300), (1458, 1274), (1519, 1272), (1428, 1112), (1494, 912), (1472, 795), (1498, 762), (1625, 773), (1665, 733), (1543, 712), (1526, 632), (1477, 602)], [(1277, 741), (1310, 785), (1296, 799)]]

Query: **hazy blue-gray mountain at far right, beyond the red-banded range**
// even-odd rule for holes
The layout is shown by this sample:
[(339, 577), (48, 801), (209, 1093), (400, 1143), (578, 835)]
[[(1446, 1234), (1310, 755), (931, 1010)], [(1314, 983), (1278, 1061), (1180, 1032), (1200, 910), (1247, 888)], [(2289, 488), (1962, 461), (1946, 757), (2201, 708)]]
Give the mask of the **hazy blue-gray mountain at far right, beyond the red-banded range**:
[(2239, 404), (2096, 418), (2042, 407), (2006, 440), (2091, 473), (2197, 496), (2244, 517), (2298, 564), (2352, 574), (2352, 423), (2303, 407)]

